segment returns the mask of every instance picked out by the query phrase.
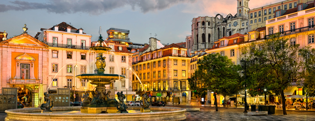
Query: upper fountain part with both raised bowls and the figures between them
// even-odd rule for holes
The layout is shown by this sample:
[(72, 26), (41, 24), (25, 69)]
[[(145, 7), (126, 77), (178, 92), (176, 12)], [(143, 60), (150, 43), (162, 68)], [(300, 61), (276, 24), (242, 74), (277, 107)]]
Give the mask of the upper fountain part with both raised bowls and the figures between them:
[(118, 80), (118, 79), (123, 79), (126, 78), (126, 76), (122, 75), (117, 75), (117, 74), (104, 74), (105, 67), (106, 67), (106, 62), (105, 59), (106, 57), (103, 57), (103, 53), (106, 51), (111, 50), (110, 47), (103, 46), (104, 40), (102, 39), (102, 35), (99, 36), (97, 44), (93, 47), (91, 47), (91, 50), (94, 50), (95, 52), (98, 53), (96, 57), (96, 71), (97, 74), (82, 74), (76, 76), (79, 79), (87, 79), (90, 80), (91, 84), (97, 85), (98, 87), (104, 87), (105, 85), (111, 84), (111, 80)]

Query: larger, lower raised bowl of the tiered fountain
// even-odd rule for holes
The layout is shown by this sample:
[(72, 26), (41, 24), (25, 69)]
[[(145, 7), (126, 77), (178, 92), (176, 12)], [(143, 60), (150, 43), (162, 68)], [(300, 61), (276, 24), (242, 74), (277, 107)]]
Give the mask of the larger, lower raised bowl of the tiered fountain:
[(88, 79), (90, 80), (91, 84), (97, 85), (99, 87), (105, 87), (105, 85), (109, 85), (111, 80), (126, 78), (126, 76), (117, 74), (82, 74), (76, 77), (79, 79)]

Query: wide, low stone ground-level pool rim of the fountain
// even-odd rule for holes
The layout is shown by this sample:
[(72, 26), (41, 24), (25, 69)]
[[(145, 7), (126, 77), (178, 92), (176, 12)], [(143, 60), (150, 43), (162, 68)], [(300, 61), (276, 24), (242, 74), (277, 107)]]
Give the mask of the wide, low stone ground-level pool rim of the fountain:
[[(186, 119), (184, 108), (178, 107), (150, 107), (151, 110), (160, 112), (148, 113), (107, 113), (107, 114), (63, 114), (54, 113), (54, 111), (80, 110), (81, 106), (53, 107), (52, 113), (31, 113), (40, 112), (41, 109), (21, 108), (9, 109), (5, 112), (7, 117), (5, 121), (182, 121)], [(129, 106), (128, 109), (140, 110), (141, 106)]]

